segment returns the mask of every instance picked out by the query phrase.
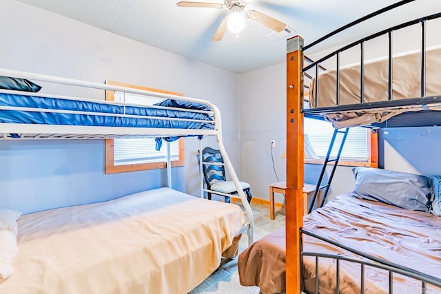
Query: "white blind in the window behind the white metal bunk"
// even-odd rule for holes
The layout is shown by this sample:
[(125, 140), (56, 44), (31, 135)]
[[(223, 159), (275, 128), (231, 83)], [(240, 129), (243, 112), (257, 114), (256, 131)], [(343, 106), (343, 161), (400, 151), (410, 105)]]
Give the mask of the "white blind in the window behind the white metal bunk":
[[(152, 105), (163, 101), (162, 98), (115, 92), (115, 102)], [(167, 160), (165, 144), (161, 150), (155, 149), (154, 138), (116, 138), (114, 139), (114, 165), (135, 165), (140, 163), (164, 162)], [(171, 160), (179, 159), (179, 140), (170, 143)]]

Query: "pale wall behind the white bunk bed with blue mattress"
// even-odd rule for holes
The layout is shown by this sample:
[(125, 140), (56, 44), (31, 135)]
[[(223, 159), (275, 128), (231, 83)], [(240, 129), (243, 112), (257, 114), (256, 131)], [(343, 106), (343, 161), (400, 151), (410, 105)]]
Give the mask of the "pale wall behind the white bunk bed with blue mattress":
[[(240, 170), (236, 74), (14, 0), (0, 1), (0, 26), (0, 67), (97, 83), (120, 81), (212, 101), (224, 114), (225, 147)], [(82, 94), (104, 98), (103, 93)], [(216, 146), (213, 138), (206, 141)], [(194, 195), (199, 187), (197, 150), (198, 140), (186, 139), (185, 167), (173, 171), (174, 187)], [(164, 170), (105, 175), (103, 140), (2, 142), (0, 166), (0, 206), (23, 212), (107, 200), (165, 184)]]

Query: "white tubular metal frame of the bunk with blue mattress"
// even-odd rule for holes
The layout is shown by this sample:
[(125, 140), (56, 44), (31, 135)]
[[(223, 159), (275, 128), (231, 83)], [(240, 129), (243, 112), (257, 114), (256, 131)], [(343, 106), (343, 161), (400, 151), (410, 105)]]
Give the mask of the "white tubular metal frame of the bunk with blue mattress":
[[(216, 105), (210, 103), (209, 101), (202, 100), (199, 98), (191, 98), (187, 96), (178, 96), (174, 94), (167, 94), (161, 92), (152, 92), (146, 90), (137, 90), (129, 87), (121, 87), (118, 85), (107, 85), (104, 83), (92, 83), (88, 81), (80, 81), (72, 78), (62, 78), (59, 76), (49, 76), (43, 74), (35, 74), (30, 72), (21, 72), (17, 70), (8, 70), (0, 68), (0, 76), (10, 76), (15, 78), (27, 78), (33, 81), (43, 81), (47, 83), (55, 83), (61, 85), (70, 85), (76, 87), (85, 87), (96, 90), (110, 90), (118, 91), (130, 94), (140, 94), (146, 96), (153, 96), (157, 98), (164, 99), (176, 99), (179, 101), (188, 101), (193, 103), (202, 103), (208, 105), (212, 111), (201, 111), (195, 109), (184, 109), (179, 108), (182, 112), (203, 112), (209, 113), (213, 116), (214, 128), (213, 129), (176, 129), (176, 128), (157, 128), (157, 127), (104, 127), (104, 126), (89, 126), (89, 125), (43, 125), (43, 124), (31, 124), (31, 123), (0, 123), (0, 140), (54, 140), (54, 139), (111, 139), (111, 138), (167, 138), (172, 136), (215, 136), (218, 142), (220, 153), (225, 160), (225, 167), (229, 172), (229, 175), (234, 182), (234, 185), (238, 188), (238, 196), (243, 207), (245, 209), (246, 221), (243, 224), (241, 233), (247, 233), (248, 243), (252, 244), (254, 239), (254, 218), (252, 209), (247, 201), (247, 196), (240, 189), (240, 182), (236, 176), (236, 172), (232, 166), (231, 160), (225, 147), (223, 145), (222, 138), (222, 120), (220, 116), (220, 111)], [(50, 94), (40, 94), (32, 92), (21, 92), (12, 90), (1, 90), (2, 93), (10, 94), (20, 94), (25, 96), (39, 96), (48, 98), (61, 98), (61, 99), (74, 99), (76, 101), (89, 101), (89, 102), (99, 102), (110, 105), (123, 105), (124, 114), (110, 114), (103, 112), (81, 112), (76, 110), (61, 110), (61, 109), (43, 109), (38, 107), (16, 107), (16, 106), (1, 106), (0, 110), (17, 110), (23, 112), (53, 112), (57, 114), (85, 114), (85, 115), (99, 115), (99, 116), (113, 116), (118, 118), (154, 118), (162, 120), (187, 120), (192, 122), (200, 122), (201, 120), (187, 119), (187, 118), (169, 118), (169, 117), (150, 117), (142, 115), (130, 115), (125, 114), (125, 106), (143, 106), (134, 105), (129, 103), (115, 103), (113, 101), (103, 101), (88, 98), (77, 98), (77, 97), (66, 97), (60, 95), (50, 95)], [(174, 107), (155, 107), (158, 109), (174, 109)], [(15, 136), (12, 136), (14, 134)], [(202, 140), (200, 141), (200, 146), (202, 145)], [(200, 148), (201, 149), (201, 148)], [(167, 143), (167, 187), (172, 187), (172, 165), (170, 159), (170, 145)], [(204, 198), (201, 193), (201, 198)]]

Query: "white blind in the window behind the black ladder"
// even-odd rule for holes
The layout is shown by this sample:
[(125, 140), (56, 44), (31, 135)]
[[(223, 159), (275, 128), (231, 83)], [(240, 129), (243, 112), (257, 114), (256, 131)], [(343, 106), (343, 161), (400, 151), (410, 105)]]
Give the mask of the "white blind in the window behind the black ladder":
[[(367, 161), (369, 160), (369, 133), (365, 127), (351, 127), (346, 138), (345, 146), (342, 149), (340, 160), (344, 161)], [(309, 139), (311, 147), (318, 158), (325, 158), (329, 149), (334, 127), (331, 123), (314, 118), (305, 118), (304, 133)], [(336, 137), (331, 157), (337, 156), (338, 147), (342, 140), (342, 134)]]

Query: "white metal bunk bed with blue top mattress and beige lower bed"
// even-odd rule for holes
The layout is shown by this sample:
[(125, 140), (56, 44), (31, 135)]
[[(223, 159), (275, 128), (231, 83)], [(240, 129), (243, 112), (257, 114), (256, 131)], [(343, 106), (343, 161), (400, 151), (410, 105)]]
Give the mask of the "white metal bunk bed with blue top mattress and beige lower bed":
[[(99, 96), (45, 92), (46, 86), (63, 85)], [(168, 142), (181, 136), (216, 136), (240, 187), (223, 146), (220, 113), (209, 101), (6, 69), (0, 69), (0, 88), (0, 140), (167, 142), (167, 187), (25, 215), (0, 209), (0, 293), (188, 293), (217, 269), (222, 256), (237, 255), (242, 233), (252, 243), (252, 210), (242, 189), (237, 197), (245, 213), (236, 204), (172, 189)], [(106, 90), (162, 101), (104, 101)]]

